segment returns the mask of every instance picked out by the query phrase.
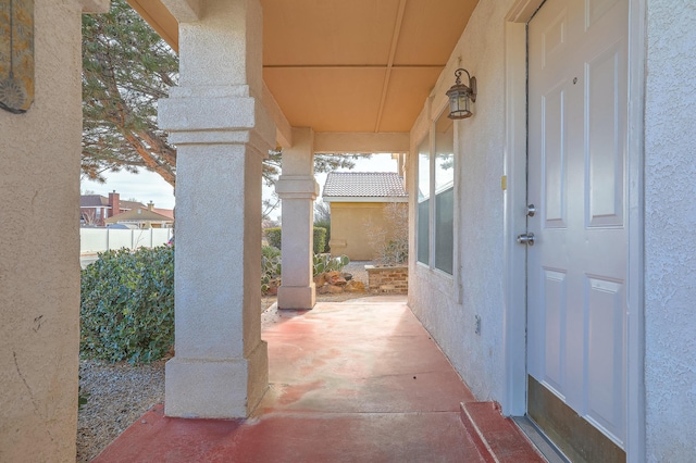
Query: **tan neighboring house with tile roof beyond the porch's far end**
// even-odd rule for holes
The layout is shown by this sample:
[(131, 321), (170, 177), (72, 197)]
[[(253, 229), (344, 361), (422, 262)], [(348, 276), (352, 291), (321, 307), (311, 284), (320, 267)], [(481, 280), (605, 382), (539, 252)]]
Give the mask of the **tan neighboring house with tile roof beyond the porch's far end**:
[(371, 230), (387, 227), (384, 208), (395, 202), (407, 207), (409, 195), (403, 178), (394, 172), (332, 172), (322, 199), (331, 205), (332, 254), (370, 261)]

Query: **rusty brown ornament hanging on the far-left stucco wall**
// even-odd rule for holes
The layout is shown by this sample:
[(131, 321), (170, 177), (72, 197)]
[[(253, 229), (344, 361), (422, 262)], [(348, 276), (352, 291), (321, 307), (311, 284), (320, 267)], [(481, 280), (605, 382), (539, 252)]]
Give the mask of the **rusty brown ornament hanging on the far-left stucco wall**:
[(15, 114), (34, 102), (34, 0), (0, 0), (0, 108)]

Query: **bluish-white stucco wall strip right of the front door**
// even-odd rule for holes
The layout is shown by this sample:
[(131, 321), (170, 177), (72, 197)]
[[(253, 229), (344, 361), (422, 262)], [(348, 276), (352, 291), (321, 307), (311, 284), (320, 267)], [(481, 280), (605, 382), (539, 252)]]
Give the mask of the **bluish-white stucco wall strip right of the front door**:
[(696, 9), (647, 2), (645, 383), (647, 461), (696, 455)]

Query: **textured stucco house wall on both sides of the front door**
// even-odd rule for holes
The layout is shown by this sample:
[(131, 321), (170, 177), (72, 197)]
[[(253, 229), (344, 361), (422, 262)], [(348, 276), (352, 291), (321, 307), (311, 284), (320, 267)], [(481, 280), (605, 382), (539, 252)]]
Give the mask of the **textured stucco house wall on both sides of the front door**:
[[(444, 104), (442, 95), (451, 85), (451, 71), (461, 55), (461, 66), (478, 79), (478, 97), (473, 107), (475, 115), (456, 126), (460, 273), (445, 277), (417, 264), (413, 255), (410, 264), (415, 272), (410, 276), (409, 303), (481, 400), (500, 400), (504, 384), (504, 314), (499, 309), (504, 249), (499, 196), (505, 128), (502, 17), (512, 1), (495, 3), (480, 2), (411, 133), (415, 152)], [(696, 409), (696, 10), (688, 2), (669, 0), (635, 0), (632, 7), (647, 9), (646, 460), (691, 461), (696, 454), (696, 417), (692, 413)], [(639, 14), (632, 17), (636, 21)], [(414, 173), (415, 160), (411, 162)], [(473, 334), (475, 314), (482, 316), (481, 337)], [(635, 445), (630, 449), (630, 460), (643, 453), (637, 448), (642, 442)]]

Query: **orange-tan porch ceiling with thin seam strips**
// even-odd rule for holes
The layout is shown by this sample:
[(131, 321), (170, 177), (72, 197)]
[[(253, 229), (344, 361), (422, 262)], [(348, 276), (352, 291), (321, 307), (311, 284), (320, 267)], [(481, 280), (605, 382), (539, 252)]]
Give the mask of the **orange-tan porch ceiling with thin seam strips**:
[[(176, 50), (160, 0), (128, 0)], [(409, 132), (478, 0), (261, 0), (263, 78), (290, 125)]]

